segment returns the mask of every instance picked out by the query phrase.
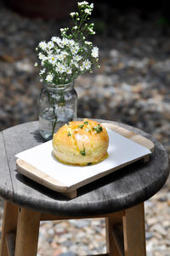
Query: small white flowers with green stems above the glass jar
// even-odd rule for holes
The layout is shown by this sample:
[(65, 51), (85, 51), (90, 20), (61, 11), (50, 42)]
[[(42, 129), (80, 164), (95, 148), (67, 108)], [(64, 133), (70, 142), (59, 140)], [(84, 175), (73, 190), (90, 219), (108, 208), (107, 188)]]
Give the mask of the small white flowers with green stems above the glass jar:
[(71, 82), (85, 71), (92, 71), (92, 67), (97, 65), (99, 48), (93, 47), (93, 43), (86, 40), (86, 36), (95, 33), (94, 23), (88, 23), (94, 3), (83, 1), (78, 3), (78, 7), (78, 12), (70, 14), (74, 18), (70, 32), (68, 27), (60, 28), (61, 37), (51, 37), (47, 43), (42, 41), (38, 44), (37, 52), (42, 68), (39, 75), (44, 82)]

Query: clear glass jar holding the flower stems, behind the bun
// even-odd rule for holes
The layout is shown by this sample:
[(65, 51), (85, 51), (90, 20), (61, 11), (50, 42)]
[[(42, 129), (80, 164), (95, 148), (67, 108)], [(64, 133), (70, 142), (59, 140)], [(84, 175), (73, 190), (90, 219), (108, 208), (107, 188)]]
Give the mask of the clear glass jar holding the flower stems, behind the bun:
[(39, 132), (46, 140), (65, 123), (77, 118), (74, 82), (45, 85), (39, 99)]

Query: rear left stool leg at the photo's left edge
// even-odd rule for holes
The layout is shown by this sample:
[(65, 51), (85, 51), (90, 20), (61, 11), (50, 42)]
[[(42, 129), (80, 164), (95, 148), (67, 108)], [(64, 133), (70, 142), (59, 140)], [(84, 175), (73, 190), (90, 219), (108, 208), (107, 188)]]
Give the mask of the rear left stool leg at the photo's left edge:
[(18, 206), (14, 205), (12, 202), (4, 201), (0, 256), (8, 256), (6, 235), (16, 230), (17, 217)]

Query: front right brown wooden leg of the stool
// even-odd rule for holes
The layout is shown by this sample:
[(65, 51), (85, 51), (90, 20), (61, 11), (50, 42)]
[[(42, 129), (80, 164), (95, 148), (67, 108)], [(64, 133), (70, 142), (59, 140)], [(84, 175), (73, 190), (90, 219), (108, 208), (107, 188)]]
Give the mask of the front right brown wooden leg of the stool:
[(125, 256), (145, 256), (144, 203), (125, 210), (123, 216)]

